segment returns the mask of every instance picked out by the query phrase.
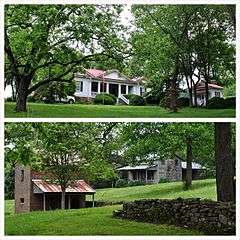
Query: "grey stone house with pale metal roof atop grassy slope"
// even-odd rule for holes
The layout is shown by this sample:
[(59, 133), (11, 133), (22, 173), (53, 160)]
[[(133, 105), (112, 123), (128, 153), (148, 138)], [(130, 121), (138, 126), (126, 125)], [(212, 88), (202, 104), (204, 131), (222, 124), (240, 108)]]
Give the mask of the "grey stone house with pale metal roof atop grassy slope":
[[(182, 181), (186, 177), (186, 162), (178, 156), (175, 159), (154, 161), (153, 164), (124, 166), (118, 168), (120, 178), (128, 181), (140, 181), (147, 184), (159, 183), (161, 180)], [(204, 171), (200, 164), (192, 163), (193, 180), (200, 179)]]

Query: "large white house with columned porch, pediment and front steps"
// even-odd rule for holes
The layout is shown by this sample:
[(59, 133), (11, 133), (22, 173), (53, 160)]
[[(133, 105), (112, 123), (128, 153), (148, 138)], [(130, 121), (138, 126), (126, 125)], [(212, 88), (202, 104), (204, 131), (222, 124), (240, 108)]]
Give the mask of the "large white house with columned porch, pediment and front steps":
[(125, 94), (142, 95), (145, 92), (142, 78), (130, 79), (118, 70), (86, 69), (84, 74), (75, 75), (75, 81), (77, 88), (74, 96), (87, 101), (104, 92), (115, 95), (118, 102), (129, 104)]

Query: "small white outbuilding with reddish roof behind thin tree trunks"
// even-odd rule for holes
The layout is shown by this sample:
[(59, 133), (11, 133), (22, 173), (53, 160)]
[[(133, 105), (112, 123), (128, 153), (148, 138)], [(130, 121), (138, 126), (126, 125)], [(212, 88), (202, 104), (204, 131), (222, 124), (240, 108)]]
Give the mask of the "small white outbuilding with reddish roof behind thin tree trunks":
[[(205, 82), (201, 81), (197, 84), (196, 94), (197, 94), (197, 105), (206, 106)], [(209, 99), (213, 97), (223, 98), (223, 87), (217, 85), (215, 82), (211, 82), (208, 84), (208, 94), (209, 94)]]

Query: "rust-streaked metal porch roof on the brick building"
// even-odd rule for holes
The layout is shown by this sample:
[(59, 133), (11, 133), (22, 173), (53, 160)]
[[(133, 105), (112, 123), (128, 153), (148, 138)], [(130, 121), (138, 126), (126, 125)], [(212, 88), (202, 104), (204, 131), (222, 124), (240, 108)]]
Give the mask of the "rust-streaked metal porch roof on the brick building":
[[(41, 190), (42, 193), (59, 193), (62, 192), (60, 185), (49, 183), (42, 179), (32, 179), (35, 186)], [(67, 193), (95, 193), (96, 191), (91, 188), (84, 180), (77, 180), (72, 186), (66, 189)]]

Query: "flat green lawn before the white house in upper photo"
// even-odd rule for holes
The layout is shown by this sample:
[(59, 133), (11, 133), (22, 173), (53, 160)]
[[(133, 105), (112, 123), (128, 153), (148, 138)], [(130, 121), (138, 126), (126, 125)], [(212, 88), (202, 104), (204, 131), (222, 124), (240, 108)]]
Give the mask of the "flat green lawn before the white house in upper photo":
[(158, 106), (103, 106), (93, 104), (44, 104), (28, 103), (27, 113), (16, 113), (14, 103), (5, 103), (5, 117), (66, 117), (66, 118), (117, 118), (117, 117), (151, 117), (151, 118), (176, 118), (176, 117), (235, 117), (235, 109), (204, 109), (183, 108), (177, 113), (171, 113)]

